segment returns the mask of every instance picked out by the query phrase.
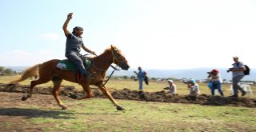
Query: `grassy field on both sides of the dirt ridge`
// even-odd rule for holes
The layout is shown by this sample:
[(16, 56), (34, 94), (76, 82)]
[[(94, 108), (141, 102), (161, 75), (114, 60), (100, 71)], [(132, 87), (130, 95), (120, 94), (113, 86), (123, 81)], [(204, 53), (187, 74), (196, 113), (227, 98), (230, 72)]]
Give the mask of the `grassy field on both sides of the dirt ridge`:
[[(0, 77), (7, 83), (17, 77)], [(22, 85), (29, 85), (29, 80)], [(176, 82), (178, 94), (188, 94), (186, 85)], [(81, 86), (63, 82), (63, 86)], [(199, 83), (202, 94), (210, 94), (206, 84)], [(51, 82), (42, 87), (52, 86)], [(138, 82), (113, 79), (110, 90), (138, 90)], [(150, 82), (145, 91), (163, 90), (167, 82)], [(94, 87), (92, 87), (94, 89)], [(226, 96), (230, 85), (223, 86)], [(252, 86), (255, 91), (255, 86)], [(126, 107), (117, 111), (106, 98), (75, 100), (62, 96), (69, 108), (60, 110), (52, 95), (34, 94), (22, 102), (21, 93), (0, 92), (1, 131), (255, 131), (256, 109), (242, 106), (202, 106), (172, 102), (120, 100)], [(254, 94), (246, 98), (255, 98)]]

